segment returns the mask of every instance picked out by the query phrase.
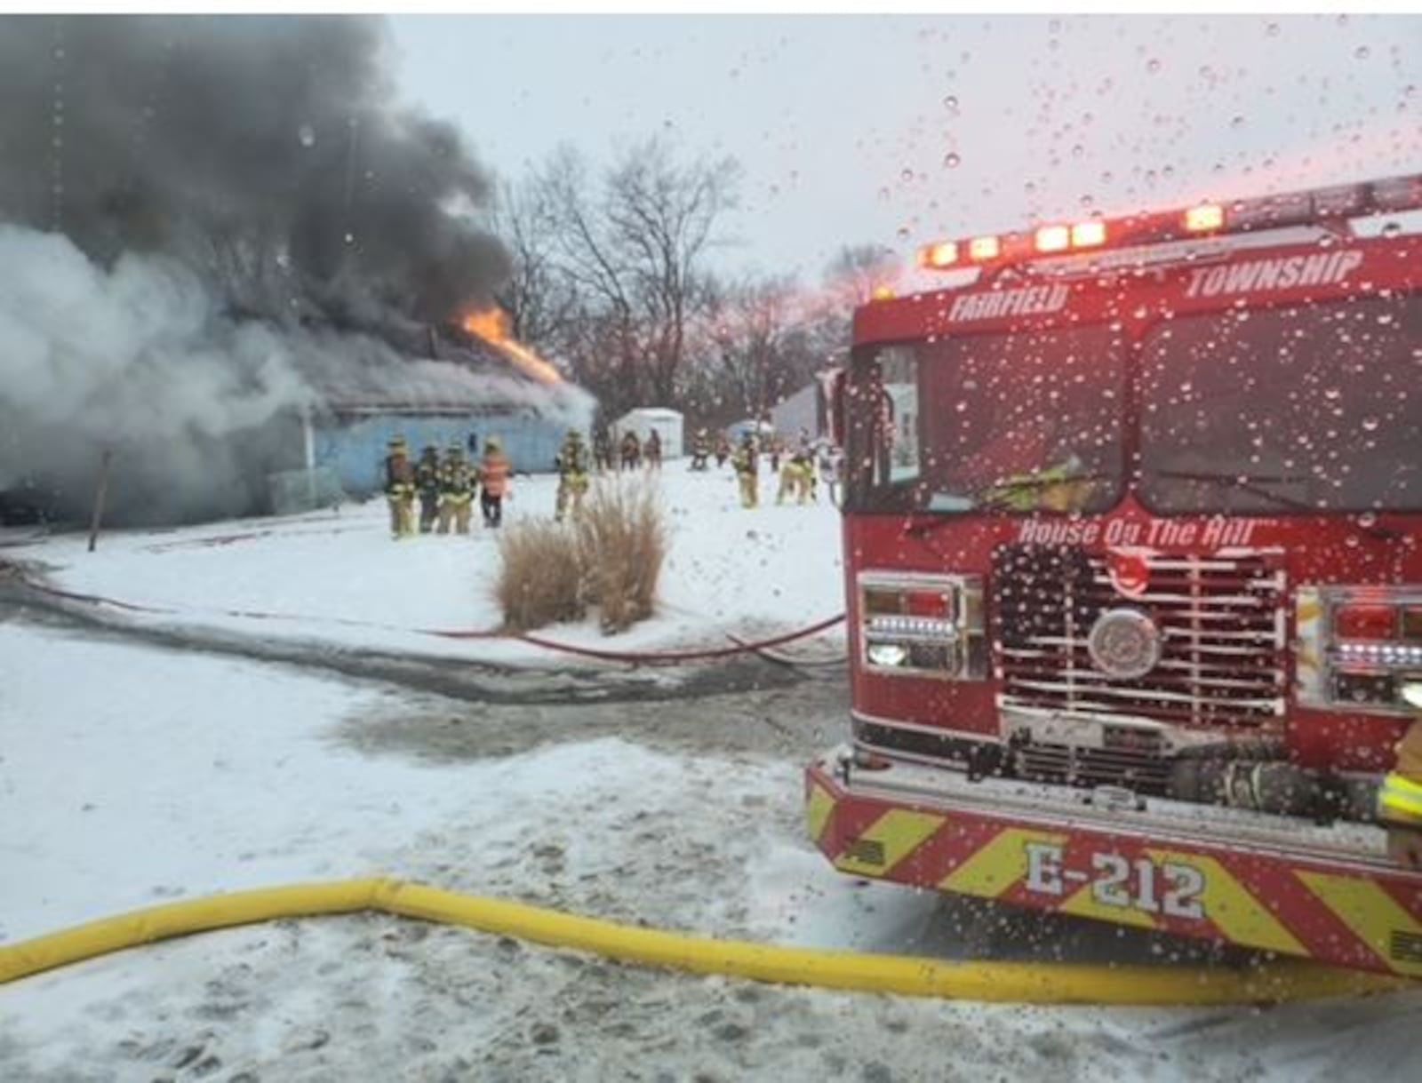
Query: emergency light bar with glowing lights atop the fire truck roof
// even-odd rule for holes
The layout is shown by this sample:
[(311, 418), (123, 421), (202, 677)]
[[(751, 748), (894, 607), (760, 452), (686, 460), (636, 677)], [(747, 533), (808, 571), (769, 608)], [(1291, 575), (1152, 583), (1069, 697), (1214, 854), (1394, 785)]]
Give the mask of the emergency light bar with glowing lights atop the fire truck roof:
[(1199, 203), (1185, 210), (1054, 223), (1038, 226), (1030, 233), (990, 233), (964, 240), (940, 240), (919, 250), (919, 266), (960, 270), (1025, 263), (1042, 256), (1069, 256), (1102, 247), (1123, 249), (1217, 233), (1250, 233), (1419, 208), (1422, 173), (1413, 173), (1233, 203)]

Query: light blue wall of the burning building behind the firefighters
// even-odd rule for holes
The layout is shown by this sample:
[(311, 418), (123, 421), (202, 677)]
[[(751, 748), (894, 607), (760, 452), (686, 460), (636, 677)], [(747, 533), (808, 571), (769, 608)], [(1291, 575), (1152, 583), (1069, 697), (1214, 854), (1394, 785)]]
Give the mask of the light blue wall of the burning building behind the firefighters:
[[(566, 424), (535, 414), (431, 415), (378, 414), (361, 418), (321, 418), (316, 421), (316, 465), (330, 468), (351, 496), (364, 496), (385, 483), (384, 463), (391, 436), (400, 435), (410, 445), (412, 458), (432, 443), (442, 453), (451, 443), (465, 446), (469, 433), (483, 441), (499, 436), (503, 453), (519, 473), (547, 473), (563, 442)], [(583, 426), (586, 435), (586, 425)]]

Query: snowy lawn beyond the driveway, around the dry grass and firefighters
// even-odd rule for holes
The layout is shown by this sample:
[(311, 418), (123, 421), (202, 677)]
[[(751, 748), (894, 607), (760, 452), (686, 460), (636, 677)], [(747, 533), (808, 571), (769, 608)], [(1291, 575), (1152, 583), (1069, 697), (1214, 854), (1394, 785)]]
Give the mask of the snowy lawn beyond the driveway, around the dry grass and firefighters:
[[(839, 517), (816, 505), (742, 509), (729, 468), (691, 473), (670, 462), (651, 475), (665, 507), (670, 559), (661, 611), (619, 635), (619, 650), (725, 647), (728, 631), (791, 631), (843, 610)], [(556, 480), (519, 478), (505, 523), (550, 516)], [(391, 542), (384, 500), (289, 519), (252, 519), (165, 532), (114, 532), (94, 553), (82, 534), (7, 547), (40, 561), (65, 590), (164, 610), (131, 614), (162, 627), (205, 627), (414, 654), (566, 665), (515, 641), (461, 641), (428, 631), (499, 625), (491, 594), (496, 536), (427, 534)], [(609, 645), (592, 620), (545, 630), (549, 638)], [(843, 642), (840, 631), (829, 642)]]

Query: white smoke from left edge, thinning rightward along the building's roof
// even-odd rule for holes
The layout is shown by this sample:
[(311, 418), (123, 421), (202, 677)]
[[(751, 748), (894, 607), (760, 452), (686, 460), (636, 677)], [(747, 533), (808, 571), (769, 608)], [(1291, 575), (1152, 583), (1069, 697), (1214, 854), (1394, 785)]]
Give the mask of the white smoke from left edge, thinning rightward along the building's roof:
[(368, 334), (239, 318), (182, 263), (112, 269), (0, 223), (0, 492), (82, 514), (101, 458), (128, 522), (240, 514), (301, 462), (300, 414), (468, 402), (586, 425), (590, 397), (417, 360)]

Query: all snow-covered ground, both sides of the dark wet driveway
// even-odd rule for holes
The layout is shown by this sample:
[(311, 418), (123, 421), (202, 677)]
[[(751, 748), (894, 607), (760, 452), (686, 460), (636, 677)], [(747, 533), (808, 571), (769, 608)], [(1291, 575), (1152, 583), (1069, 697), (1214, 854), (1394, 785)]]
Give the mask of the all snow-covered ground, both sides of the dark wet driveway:
[[(741, 512), (725, 475), (668, 470), (664, 485), (673, 604), (619, 642), (720, 645), (728, 630), (838, 611), (832, 510)], [(519, 500), (519, 513), (546, 509), (550, 489), (535, 479)], [(371, 625), (496, 620), (489, 539), (397, 546), (383, 514), (114, 534), (92, 557), (68, 539), (6, 554), (68, 588), (182, 610), (161, 618), (176, 627), (415, 652), (428, 637)], [(255, 536), (199, 543), (228, 534)], [(223, 613), (253, 607), (314, 620)], [(830, 871), (803, 837), (801, 767), (842, 732), (836, 677), (695, 702), (495, 706), (4, 617), (0, 942), (171, 898), (381, 873), (786, 944), (1179, 951)], [(570, 635), (596, 638), (556, 632)], [(1419, 1016), (1418, 995), (1101, 1011), (784, 989), (373, 915), (206, 934), (0, 986), (0, 1080), (1375, 1083), (1415, 1077)]]

